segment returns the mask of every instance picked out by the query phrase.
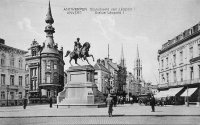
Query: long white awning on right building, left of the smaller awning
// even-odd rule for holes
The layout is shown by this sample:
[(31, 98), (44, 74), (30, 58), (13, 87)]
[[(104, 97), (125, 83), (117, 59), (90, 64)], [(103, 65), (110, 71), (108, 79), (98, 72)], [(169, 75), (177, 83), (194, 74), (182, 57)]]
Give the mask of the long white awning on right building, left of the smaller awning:
[(182, 89), (183, 89), (183, 87), (180, 87), (180, 88), (171, 88), (171, 89), (166, 90), (166, 91), (160, 91), (159, 93), (157, 93), (155, 95), (155, 97), (161, 98), (161, 97), (175, 96)]

